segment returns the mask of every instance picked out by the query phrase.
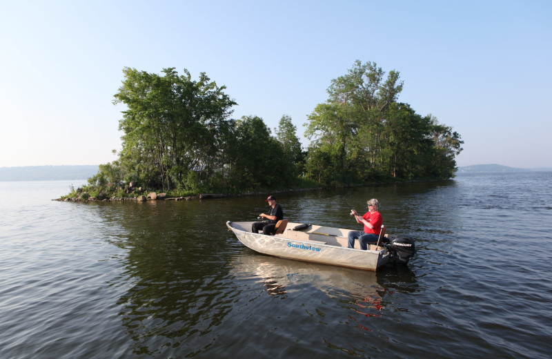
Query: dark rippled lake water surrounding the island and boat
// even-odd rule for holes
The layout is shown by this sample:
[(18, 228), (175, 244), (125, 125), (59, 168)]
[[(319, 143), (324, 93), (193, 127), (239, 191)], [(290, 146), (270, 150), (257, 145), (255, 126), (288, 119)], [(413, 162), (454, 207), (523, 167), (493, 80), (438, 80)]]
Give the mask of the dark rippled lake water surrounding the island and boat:
[(259, 255), (228, 232), (265, 195), (51, 201), (0, 182), (0, 358), (550, 358), (552, 173), (277, 194), (284, 215), (415, 237), (377, 273)]

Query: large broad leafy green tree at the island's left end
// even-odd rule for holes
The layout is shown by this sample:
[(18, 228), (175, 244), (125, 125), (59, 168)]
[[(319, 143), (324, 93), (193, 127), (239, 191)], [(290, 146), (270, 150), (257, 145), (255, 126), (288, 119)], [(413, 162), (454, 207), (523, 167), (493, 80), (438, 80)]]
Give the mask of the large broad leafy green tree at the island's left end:
[[(216, 153), (217, 128), (231, 114), (235, 101), (201, 72), (179, 76), (166, 68), (163, 76), (124, 69), (123, 85), (114, 103), (124, 103), (119, 129), (124, 135), (121, 165), (130, 179), (152, 187), (186, 187), (189, 172), (210, 175)], [(196, 183), (194, 184), (196, 186)]]

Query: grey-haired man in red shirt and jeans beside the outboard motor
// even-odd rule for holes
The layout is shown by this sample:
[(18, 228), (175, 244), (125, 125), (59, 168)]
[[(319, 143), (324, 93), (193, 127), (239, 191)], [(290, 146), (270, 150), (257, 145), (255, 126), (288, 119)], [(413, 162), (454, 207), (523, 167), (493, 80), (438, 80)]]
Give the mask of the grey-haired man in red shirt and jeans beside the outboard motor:
[(380, 231), (382, 230), (383, 218), (380, 214), (380, 202), (377, 202), (375, 198), (368, 200), (368, 212), (364, 213), (361, 217), (357, 211), (351, 210), (351, 215), (355, 216), (355, 220), (358, 223), (364, 224), (364, 231), (350, 231), (348, 234), (348, 248), (355, 247), (355, 240), (360, 243), (360, 248), (366, 251), (368, 242), (377, 242), (377, 238), (380, 237)]

